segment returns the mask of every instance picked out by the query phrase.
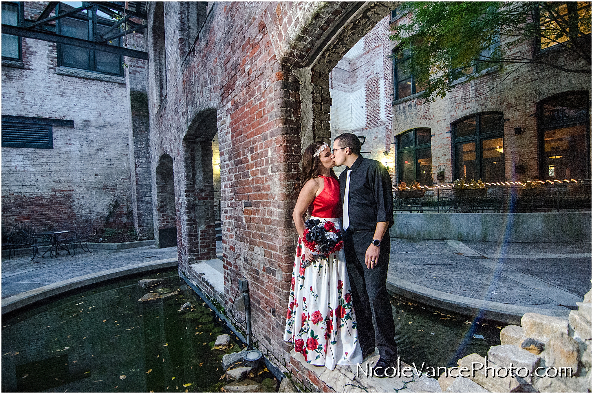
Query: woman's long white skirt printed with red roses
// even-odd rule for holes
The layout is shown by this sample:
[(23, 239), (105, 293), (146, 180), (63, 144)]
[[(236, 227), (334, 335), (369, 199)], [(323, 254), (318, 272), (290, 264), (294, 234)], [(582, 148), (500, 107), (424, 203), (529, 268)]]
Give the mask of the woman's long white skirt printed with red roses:
[[(312, 219), (342, 228), (341, 219)], [(284, 340), (293, 342), (295, 351), (315, 366), (333, 370), (336, 364), (362, 363), (344, 249), (302, 268), (304, 248), (299, 238)]]

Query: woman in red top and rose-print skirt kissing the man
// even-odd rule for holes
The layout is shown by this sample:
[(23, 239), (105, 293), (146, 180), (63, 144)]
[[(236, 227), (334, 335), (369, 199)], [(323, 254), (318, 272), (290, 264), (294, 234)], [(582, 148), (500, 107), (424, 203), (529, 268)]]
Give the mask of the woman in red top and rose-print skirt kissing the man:
[(303, 215), (313, 205), (312, 219), (331, 221), (342, 229), (340, 183), (329, 145), (314, 142), (302, 158), (302, 189), (292, 218), (299, 234), (284, 340), (294, 343), (307, 363), (326, 366), (362, 362), (352, 292), (344, 250), (328, 258), (313, 253), (302, 242)]

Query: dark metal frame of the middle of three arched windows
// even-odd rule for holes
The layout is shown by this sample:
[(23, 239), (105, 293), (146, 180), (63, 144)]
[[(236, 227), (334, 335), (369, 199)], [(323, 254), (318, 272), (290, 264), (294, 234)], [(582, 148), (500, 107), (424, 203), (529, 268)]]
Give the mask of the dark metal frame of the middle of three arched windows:
[[(504, 121), (504, 114), (499, 111), (485, 111), (477, 112), (468, 116), (464, 116), (460, 119), (455, 120), (451, 123), (451, 166), (454, 179), (461, 179), (460, 174), (457, 173), (457, 152), (455, 147), (457, 144), (463, 144), (467, 142), (474, 142), (476, 144), (476, 172), (480, 174), (480, 179), (483, 179), (482, 173), (482, 140), (492, 138), (502, 138), (502, 146), (505, 146), (505, 129), (504, 126), (501, 131), (493, 131), (488, 133), (480, 133), (480, 127), (482, 126), (482, 116), (484, 115), (500, 115)], [(464, 122), (467, 119), (476, 118), (476, 133), (470, 136), (457, 137), (457, 125)], [(505, 160), (506, 163), (506, 160)], [(505, 167), (505, 179), (506, 179), (506, 167)]]

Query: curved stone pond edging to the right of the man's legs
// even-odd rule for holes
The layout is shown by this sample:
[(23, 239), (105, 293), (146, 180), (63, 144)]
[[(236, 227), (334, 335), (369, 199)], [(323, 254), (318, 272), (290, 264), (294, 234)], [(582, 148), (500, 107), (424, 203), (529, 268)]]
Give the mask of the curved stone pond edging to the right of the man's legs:
[(570, 309), (556, 305), (551, 305), (553, 307), (551, 309), (544, 309), (477, 300), (476, 298), (463, 297), (463, 295), (433, 290), (399, 278), (387, 281), (387, 289), (426, 305), (509, 324), (521, 324), (521, 317), (527, 312), (547, 314), (548, 316), (563, 317), (565, 319), (568, 319), (570, 313)]

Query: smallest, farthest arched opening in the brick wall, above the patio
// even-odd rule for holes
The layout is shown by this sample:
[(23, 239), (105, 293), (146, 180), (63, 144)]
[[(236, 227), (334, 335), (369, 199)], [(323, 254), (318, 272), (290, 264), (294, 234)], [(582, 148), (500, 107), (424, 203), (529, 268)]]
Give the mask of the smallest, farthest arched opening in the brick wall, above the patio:
[(164, 153), (155, 169), (154, 239), (158, 247), (177, 246), (177, 215), (173, 158)]

